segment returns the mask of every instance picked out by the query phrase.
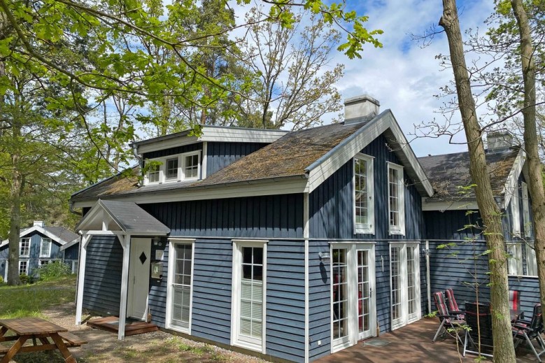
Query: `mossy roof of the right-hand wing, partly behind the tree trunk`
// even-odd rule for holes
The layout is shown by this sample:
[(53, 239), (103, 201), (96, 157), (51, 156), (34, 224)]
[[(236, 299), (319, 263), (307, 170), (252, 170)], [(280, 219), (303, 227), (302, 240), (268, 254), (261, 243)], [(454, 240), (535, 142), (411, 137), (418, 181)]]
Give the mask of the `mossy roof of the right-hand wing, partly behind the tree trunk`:
[[(490, 173), (490, 185), (495, 196), (507, 199), (509, 203), (509, 179), (517, 178), (523, 166), (524, 153), (520, 148), (508, 148), (486, 152), (486, 162)], [(472, 185), (469, 175), (469, 152), (420, 157), (418, 161), (430, 178), (435, 194), (430, 199), (456, 201), (475, 198), (473, 190), (462, 187)], [(515, 175), (516, 174), (516, 175)]]

